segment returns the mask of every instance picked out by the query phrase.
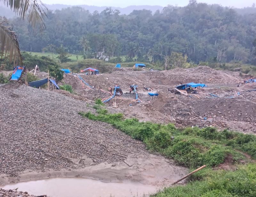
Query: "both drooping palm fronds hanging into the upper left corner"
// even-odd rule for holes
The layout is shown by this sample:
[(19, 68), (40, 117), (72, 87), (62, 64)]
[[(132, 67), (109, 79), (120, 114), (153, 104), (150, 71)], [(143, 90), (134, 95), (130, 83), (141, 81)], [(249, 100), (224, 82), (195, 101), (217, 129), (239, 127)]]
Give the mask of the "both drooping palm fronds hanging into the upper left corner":
[[(4, 5), (19, 16), (22, 20), (27, 20), (34, 28), (39, 27), (40, 32), (45, 29), (44, 18), (46, 17), (47, 8), (40, 0), (0, 0)], [(10, 56), (10, 61), (22, 65), (19, 42), (17, 35), (8, 25), (7, 19), (0, 16), (0, 58)]]

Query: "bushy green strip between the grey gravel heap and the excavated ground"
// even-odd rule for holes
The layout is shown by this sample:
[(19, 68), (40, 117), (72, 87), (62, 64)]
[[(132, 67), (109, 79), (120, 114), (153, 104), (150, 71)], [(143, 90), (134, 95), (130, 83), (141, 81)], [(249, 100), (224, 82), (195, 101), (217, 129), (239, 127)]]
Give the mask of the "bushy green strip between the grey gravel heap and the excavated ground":
[(172, 158), (176, 163), (189, 168), (218, 166), (232, 155), (234, 162), (244, 159), (244, 155), (235, 148), (256, 158), (256, 136), (234, 133), (227, 130), (217, 132), (213, 127), (204, 129), (187, 128), (179, 130), (174, 125), (161, 125), (151, 122), (139, 122), (136, 118), (123, 119), (122, 114), (107, 114), (95, 104), (99, 115), (90, 112), (79, 114), (92, 120), (107, 122), (117, 129), (143, 141), (147, 148)]

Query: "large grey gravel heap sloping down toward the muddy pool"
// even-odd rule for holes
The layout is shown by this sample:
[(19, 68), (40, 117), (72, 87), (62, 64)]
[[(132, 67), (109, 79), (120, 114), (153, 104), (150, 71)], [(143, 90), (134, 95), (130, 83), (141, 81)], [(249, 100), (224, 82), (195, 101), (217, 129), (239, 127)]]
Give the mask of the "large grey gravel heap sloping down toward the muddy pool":
[[(25, 85), (0, 86), (0, 174), (74, 169), (123, 161), (145, 151), (142, 142), (78, 115), (86, 102)], [(76, 161), (76, 162), (74, 162)]]

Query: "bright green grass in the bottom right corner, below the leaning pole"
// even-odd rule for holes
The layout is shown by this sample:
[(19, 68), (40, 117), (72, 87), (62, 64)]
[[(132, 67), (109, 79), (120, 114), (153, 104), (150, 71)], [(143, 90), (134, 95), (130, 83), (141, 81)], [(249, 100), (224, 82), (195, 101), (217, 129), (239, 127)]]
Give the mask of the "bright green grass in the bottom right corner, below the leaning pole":
[(256, 165), (240, 165), (236, 171), (201, 170), (201, 181), (191, 181), (186, 186), (176, 186), (152, 197), (254, 197), (256, 196)]

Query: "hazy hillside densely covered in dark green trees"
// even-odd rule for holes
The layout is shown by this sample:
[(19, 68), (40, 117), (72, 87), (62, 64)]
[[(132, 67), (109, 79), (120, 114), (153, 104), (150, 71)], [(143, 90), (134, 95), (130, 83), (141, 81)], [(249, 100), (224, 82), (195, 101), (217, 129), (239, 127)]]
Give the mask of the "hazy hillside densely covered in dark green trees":
[(155, 13), (134, 10), (129, 15), (109, 8), (100, 13), (80, 7), (49, 11), (42, 35), (35, 35), (20, 19), (12, 20), (12, 25), (26, 51), (63, 46), (69, 53), (84, 53), (87, 58), (104, 52), (110, 57), (125, 55), (150, 62), (163, 61), (176, 51), (195, 63), (213, 58), (256, 63), (255, 13), (238, 14), (216, 4), (190, 2), (185, 7), (168, 6)]

